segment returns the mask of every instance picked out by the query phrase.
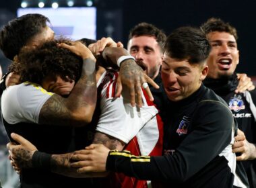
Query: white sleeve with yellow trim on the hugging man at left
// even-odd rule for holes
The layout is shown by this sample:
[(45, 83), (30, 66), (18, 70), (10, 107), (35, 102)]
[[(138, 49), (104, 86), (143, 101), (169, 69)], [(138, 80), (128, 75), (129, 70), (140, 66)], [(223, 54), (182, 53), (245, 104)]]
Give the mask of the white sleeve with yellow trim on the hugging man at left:
[(32, 83), (10, 86), (3, 91), (1, 98), (3, 118), (9, 124), (38, 124), (40, 109), (53, 94)]

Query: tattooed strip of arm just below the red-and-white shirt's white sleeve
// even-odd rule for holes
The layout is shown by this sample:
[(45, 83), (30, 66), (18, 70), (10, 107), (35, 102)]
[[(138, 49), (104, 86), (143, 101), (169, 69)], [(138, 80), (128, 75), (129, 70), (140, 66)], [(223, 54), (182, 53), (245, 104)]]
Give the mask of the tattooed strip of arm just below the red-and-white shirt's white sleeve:
[(110, 150), (123, 150), (125, 142), (114, 138), (113, 136), (108, 136), (107, 134), (96, 132), (94, 136), (94, 144), (103, 144)]

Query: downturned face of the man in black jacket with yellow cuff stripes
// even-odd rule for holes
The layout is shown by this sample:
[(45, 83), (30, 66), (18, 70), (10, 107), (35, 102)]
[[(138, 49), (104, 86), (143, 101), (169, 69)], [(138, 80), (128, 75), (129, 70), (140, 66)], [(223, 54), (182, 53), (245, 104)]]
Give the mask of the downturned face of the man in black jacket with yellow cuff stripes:
[(164, 90), (171, 101), (189, 97), (207, 75), (207, 66), (190, 64), (188, 60), (177, 60), (167, 54), (164, 54), (161, 70)]

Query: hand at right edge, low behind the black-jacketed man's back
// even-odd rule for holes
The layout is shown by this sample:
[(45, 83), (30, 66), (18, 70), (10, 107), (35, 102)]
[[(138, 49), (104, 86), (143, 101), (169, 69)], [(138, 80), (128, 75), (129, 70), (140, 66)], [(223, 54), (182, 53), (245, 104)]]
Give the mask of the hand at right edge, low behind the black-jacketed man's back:
[(255, 144), (249, 143), (244, 132), (238, 130), (237, 136), (234, 138), (232, 152), (240, 152), (240, 156), (236, 156), (236, 160), (253, 160), (256, 158)]

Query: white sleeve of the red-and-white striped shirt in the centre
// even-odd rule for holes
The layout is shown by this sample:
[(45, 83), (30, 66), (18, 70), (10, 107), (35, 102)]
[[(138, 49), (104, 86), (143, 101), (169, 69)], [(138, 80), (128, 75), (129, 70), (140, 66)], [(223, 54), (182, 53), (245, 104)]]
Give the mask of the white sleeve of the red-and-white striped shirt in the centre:
[(148, 106), (132, 107), (123, 97), (108, 98), (102, 96), (101, 115), (96, 130), (122, 140), (126, 144), (151, 120), (158, 110)]

